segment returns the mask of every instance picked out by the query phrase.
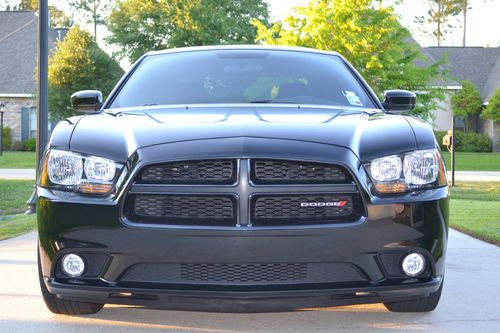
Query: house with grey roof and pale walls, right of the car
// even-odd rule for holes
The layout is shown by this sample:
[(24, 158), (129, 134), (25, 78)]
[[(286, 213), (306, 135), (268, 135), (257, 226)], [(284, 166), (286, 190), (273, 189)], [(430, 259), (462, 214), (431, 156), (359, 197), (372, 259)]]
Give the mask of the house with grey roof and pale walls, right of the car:
[[(479, 90), (483, 105), (487, 105), (496, 89), (500, 88), (500, 47), (425, 47), (427, 56), (432, 59), (447, 57), (445, 65), (449, 75), (458, 81), (469, 80)], [(449, 130), (451, 125), (450, 96), (459, 89), (460, 84), (445, 87), (450, 93), (441, 109), (435, 112), (434, 127), (437, 130)], [(493, 151), (500, 151), (500, 124), (482, 119), (479, 115), (472, 117), (472, 129), (487, 135), (492, 139)], [(456, 126), (463, 127), (463, 121), (457, 121)]]

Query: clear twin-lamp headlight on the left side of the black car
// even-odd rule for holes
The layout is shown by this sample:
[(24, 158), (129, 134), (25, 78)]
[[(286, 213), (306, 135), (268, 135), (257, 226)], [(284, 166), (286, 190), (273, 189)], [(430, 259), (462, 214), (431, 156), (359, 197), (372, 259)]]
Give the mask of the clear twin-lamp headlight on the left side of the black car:
[(82, 193), (107, 194), (113, 188), (119, 167), (115, 162), (101, 157), (50, 150), (44, 165), (46, 172), (42, 173), (42, 178), (48, 174), (50, 184), (42, 179), (42, 185), (56, 185), (61, 189)]

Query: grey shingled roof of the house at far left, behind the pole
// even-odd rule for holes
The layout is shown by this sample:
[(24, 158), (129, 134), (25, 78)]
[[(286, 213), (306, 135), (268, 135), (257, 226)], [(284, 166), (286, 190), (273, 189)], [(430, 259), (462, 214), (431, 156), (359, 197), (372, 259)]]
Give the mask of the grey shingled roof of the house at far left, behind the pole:
[[(53, 49), (58, 32), (49, 30)], [(34, 94), (38, 16), (29, 11), (0, 11), (0, 95)]]

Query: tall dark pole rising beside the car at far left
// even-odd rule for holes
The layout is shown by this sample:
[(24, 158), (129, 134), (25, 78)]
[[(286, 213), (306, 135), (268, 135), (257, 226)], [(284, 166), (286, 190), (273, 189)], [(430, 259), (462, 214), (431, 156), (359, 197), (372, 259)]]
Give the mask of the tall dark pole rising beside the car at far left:
[[(48, 0), (38, 1), (38, 100), (36, 119), (36, 178), (40, 173), (43, 161), (43, 151), (48, 141), (49, 129), (49, 94), (48, 94), (48, 69), (49, 69), (49, 4)], [(36, 187), (28, 200), (27, 213), (36, 211)]]

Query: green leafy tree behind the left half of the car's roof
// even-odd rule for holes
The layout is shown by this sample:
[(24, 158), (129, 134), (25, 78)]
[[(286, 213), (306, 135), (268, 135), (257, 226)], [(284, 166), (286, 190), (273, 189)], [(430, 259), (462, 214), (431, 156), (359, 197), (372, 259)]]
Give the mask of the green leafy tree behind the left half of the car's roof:
[(268, 20), (264, 0), (125, 0), (109, 17), (107, 39), (119, 56), (137, 60), (150, 50), (254, 43), (252, 19)]

